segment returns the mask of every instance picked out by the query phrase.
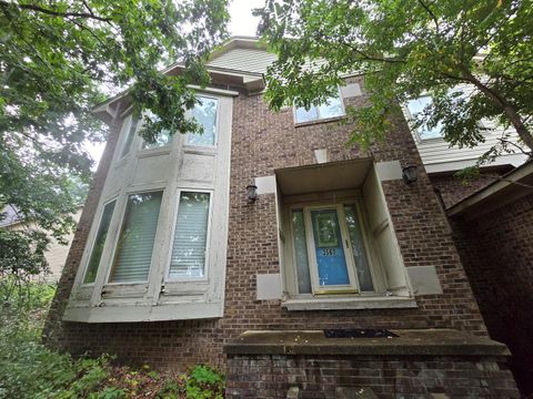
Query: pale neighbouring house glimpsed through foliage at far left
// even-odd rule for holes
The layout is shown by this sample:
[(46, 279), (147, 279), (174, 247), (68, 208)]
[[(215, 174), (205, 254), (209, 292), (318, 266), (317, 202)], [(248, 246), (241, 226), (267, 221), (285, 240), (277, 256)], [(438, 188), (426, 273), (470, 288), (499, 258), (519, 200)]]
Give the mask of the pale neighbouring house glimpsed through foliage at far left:
[[(81, 212), (82, 208), (80, 207), (80, 209), (74, 215), (72, 215), (76, 222), (80, 221)], [(6, 206), (2, 209), (2, 213), (6, 214), (6, 217), (0, 222), (0, 228), (22, 231), (36, 227), (32, 223), (28, 224), (24, 221), (21, 221), (17, 214), (17, 211), (11, 205)], [(37, 279), (47, 283), (59, 282), (73, 238), (74, 233), (71, 233), (64, 237), (64, 239), (68, 242), (68, 245), (62, 245), (58, 243), (54, 238), (51, 238), (48, 250), (44, 254), (48, 262), (49, 273), (36, 276)]]

